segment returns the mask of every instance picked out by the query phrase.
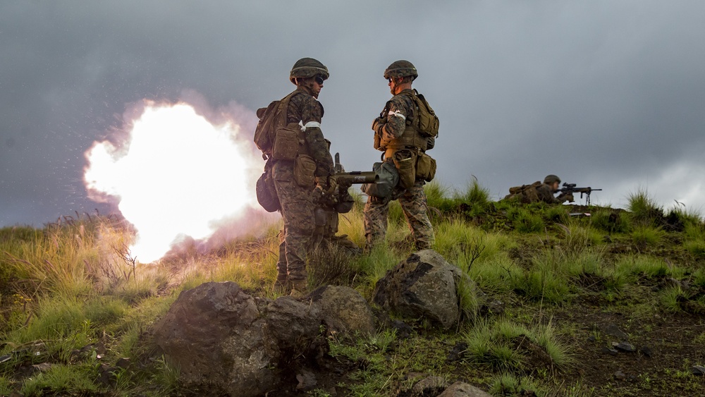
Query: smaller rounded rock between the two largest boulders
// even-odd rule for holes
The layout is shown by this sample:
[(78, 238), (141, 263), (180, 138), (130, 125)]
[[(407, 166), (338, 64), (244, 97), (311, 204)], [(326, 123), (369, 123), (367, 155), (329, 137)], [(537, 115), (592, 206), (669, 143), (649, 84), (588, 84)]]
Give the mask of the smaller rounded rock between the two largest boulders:
[(347, 286), (322, 286), (307, 296), (319, 305), (329, 332), (369, 335), (374, 333), (374, 314), (367, 300)]

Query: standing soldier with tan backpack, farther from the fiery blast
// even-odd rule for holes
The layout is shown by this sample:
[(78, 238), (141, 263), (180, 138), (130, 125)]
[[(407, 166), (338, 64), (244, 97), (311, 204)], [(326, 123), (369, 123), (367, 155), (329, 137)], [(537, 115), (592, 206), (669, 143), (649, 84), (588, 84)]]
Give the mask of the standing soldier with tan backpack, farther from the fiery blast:
[[(384, 71), (384, 78), (388, 80), (393, 97), (372, 123), (374, 147), (384, 152), (384, 161), (395, 164), (400, 173), (400, 183), (394, 188), (391, 197), (369, 195), (367, 198), (364, 206), (364, 235), (368, 250), (384, 241), (388, 204), (391, 200), (399, 200), (417, 250), (431, 248), (434, 243), (434, 229), (427, 215), (425, 182), (422, 178), (405, 173), (407, 168), (404, 165), (415, 161), (435, 144), (435, 137), (424, 136), (419, 130), (419, 108), (414, 98), (417, 92), (412, 90), (412, 82), (417, 77), (416, 68), (409, 61), (393, 62)], [(406, 183), (402, 182), (404, 179)]]

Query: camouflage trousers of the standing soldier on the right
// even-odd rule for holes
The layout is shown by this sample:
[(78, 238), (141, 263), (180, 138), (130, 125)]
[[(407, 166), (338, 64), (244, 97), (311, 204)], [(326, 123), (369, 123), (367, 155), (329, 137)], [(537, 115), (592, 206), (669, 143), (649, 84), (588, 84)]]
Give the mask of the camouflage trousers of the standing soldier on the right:
[[(391, 200), (399, 200), (404, 212), (406, 223), (409, 225), (411, 236), (417, 250), (431, 248), (434, 244), (434, 228), (429, 220), (428, 203), (424, 193), (424, 181), (416, 181), (414, 186), (406, 190), (396, 190), (392, 193)], [(367, 247), (384, 241), (387, 233), (387, 218), (389, 215), (389, 201), (377, 197), (367, 197), (364, 204), (364, 237)]]

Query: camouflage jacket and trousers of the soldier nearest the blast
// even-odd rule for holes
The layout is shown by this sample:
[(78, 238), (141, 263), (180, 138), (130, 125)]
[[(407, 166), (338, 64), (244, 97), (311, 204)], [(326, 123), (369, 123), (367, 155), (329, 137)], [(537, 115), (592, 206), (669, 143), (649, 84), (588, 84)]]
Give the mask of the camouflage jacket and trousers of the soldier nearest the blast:
[[(323, 106), (304, 88), (298, 87), (289, 100), (287, 123), (320, 123)], [(327, 177), (333, 173), (333, 158), (324, 140), (321, 128), (305, 130), (308, 154), (316, 161), (316, 176)], [(272, 168), (276, 194), (281, 203), (284, 220), (283, 241), (279, 245), (277, 280), (292, 283), (305, 281), (306, 255), (314, 233), (313, 187), (301, 187), (294, 181), (294, 161), (278, 160)]]

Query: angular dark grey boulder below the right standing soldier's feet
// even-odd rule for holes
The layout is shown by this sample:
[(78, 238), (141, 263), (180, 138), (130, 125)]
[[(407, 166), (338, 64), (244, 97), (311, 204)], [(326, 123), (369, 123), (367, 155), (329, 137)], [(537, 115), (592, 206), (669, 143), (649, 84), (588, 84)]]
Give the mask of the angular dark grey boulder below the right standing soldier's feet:
[(458, 286), (475, 288), (465, 272), (434, 250), (415, 252), (377, 281), (374, 303), (407, 318), (450, 328), (460, 318)]

